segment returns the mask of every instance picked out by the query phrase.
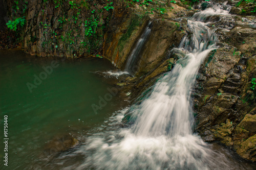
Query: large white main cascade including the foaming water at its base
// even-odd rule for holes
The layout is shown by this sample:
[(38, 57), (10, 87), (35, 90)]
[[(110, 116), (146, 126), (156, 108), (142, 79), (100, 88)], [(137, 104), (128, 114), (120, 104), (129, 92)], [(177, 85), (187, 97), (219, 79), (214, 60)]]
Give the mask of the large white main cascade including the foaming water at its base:
[(214, 6), (188, 19), (192, 34), (180, 44), (187, 55), (156, 83), (140, 105), (131, 107), (130, 112), (137, 117), (131, 128), (116, 130), (127, 110), (124, 109), (110, 118), (107, 131), (87, 138), (84, 147), (75, 152), (84, 154), (85, 159), (78, 169), (240, 168), (224, 154), (211, 150), (191, 128), (194, 120), (191, 88), (200, 64), (216, 48), (214, 30), (202, 22), (209, 13), (226, 15), (228, 11)]

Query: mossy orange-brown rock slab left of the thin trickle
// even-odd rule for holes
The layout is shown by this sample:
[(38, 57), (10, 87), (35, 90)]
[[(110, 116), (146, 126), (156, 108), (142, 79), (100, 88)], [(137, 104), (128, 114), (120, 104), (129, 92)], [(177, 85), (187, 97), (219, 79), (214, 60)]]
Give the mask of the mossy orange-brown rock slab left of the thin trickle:
[(115, 13), (103, 45), (104, 58), (118, 68), (124, 67), (127, 57), (147, 26), (148, 20), (148, 17), (139, 17), (131, 8), (121, 11), (120, 14)]

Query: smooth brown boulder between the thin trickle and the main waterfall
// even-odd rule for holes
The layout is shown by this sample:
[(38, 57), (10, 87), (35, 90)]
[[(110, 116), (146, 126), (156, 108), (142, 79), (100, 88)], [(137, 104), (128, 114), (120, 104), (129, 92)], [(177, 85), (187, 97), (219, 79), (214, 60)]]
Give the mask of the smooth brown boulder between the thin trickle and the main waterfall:
[[(166, 59), (167, 53), (172, 48), (178, 47), (185, 35), (184, 23), (171, 20), (155, 20), (152, 33), (144, 46), (141, 60), (138, 62), (138, 77), (156, 69)], [(154, 46), (154, 48), (153, 48)], [(170, 58), (174, 58), (170, 56)]]

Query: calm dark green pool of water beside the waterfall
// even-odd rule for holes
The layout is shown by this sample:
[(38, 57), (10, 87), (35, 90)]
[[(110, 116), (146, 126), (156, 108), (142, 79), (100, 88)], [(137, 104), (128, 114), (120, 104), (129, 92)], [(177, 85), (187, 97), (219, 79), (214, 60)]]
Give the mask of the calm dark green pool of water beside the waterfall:
[[(103, 59), (62, 61), (22, 51), (0, 51), (0, 63), (0, 169), (6, 168), (4, 115), (8, 115), (8, 169), (29, 169), (47, 141), (66, 134), (86, 134), (119, 107), (113, 96), (97, 114), (92, 108), (113, 88), (95, 73), (113, 68)], [(49, 66), (54, 67), (51, 70)], [(44, 68), (48, 73), (42, 73)], [(34, 83), (35, 77), (44, 80)]]

